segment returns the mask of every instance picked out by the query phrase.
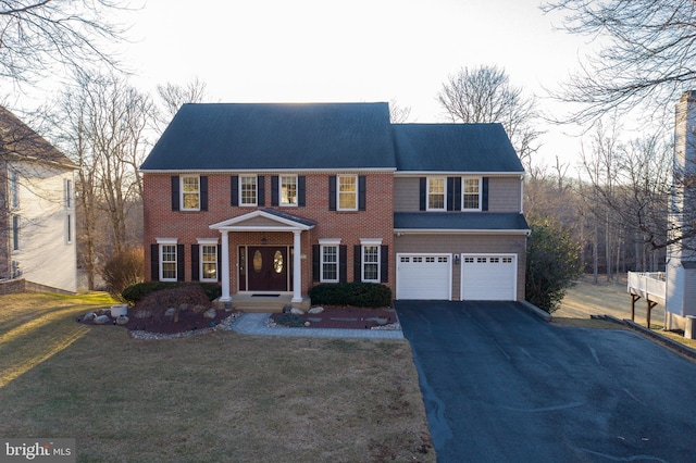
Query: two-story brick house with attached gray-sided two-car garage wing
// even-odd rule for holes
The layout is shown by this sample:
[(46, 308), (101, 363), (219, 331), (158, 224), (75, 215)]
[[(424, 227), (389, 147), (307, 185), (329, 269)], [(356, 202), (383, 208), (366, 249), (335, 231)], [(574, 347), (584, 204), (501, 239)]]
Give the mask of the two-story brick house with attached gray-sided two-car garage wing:
[(522, 300), (524, 171), (500, 124), (390, 124), (387, 103), (185, 104), (141, 165), (146, 275), (223, 301), (320, 281)]

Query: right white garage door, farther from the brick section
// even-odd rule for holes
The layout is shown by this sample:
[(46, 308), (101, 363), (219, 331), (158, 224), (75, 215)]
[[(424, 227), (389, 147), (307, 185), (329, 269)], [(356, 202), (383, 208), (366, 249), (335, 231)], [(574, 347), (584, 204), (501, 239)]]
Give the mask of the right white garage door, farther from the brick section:
[(517, 299), (517, 255), (462, 254), (461, 293), (470, 301)]

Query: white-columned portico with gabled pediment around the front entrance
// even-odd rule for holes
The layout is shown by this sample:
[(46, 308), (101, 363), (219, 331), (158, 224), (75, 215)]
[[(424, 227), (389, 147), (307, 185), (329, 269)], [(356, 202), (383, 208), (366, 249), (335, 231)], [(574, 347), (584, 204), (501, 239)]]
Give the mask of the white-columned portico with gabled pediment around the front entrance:
[[(293, 216), (276, 210), (257, 210), (247, 214), (210, 225), (219, 230), (221, 239), (221, 302), (232, 301), (231, 260), (235, 260), (238, 276), (237, 288), (246, 291), (290, 292), (291, 302), (302, 302), (302, 247), (301, 234), (314, 228), (314, 222)], [(238, 252), (231, 255), (229, 234), (243, 236), (245, 233), (291, 233), (293, 245), (265, 242), (246, 242), (243, 238), (235, 240)], [(234, 238), (233, 238), (234, 239)], [(291, 262), (290, 265), (288, 265)]]

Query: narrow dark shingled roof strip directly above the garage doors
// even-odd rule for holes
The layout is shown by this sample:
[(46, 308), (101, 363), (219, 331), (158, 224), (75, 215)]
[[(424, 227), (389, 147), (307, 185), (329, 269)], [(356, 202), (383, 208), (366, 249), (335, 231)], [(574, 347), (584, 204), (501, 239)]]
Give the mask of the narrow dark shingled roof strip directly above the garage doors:
[(494, 212), (396, 212), (394, 229), (527, 230), (524, 215)]

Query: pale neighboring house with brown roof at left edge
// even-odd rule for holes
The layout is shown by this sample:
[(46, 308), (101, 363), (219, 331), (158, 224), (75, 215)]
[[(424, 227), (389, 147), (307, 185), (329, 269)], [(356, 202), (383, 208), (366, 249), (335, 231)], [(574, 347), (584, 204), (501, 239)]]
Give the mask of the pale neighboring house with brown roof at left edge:
[(77, 165), (0, 107), (0, 279), (75, 292)]

